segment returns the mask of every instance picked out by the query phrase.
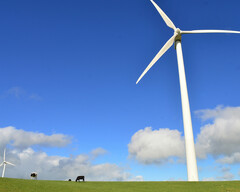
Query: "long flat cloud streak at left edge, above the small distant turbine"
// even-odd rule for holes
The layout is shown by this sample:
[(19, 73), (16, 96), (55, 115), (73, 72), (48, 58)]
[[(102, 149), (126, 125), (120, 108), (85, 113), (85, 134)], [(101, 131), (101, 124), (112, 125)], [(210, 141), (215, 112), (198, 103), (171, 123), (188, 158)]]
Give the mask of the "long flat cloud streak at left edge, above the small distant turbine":
[(70, 138), (63, 134), (45, 135), (43, 133), (28, 132), (14, 127), (0, 128), (0, 146), (11, 144), (17, 148), (28, 148), (33, 145), (63, 147), (70, 142)]

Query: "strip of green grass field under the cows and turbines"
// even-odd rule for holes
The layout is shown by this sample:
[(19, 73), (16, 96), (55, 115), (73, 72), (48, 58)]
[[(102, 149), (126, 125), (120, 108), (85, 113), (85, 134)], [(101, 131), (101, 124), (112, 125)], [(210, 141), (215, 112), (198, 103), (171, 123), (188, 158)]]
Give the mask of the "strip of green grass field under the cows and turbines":
[(240, 181), (69, 182), (0, 178), (0, 192), (240, 192)]

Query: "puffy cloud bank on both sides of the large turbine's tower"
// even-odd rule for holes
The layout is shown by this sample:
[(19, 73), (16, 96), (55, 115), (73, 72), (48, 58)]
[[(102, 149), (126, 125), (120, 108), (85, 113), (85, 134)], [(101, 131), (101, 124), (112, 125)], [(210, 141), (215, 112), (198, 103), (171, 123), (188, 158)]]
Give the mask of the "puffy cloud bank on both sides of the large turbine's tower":
[[(211, 121), (197, 135), (197, 157), (211, 155), (218, 163), (240, 163), (240, 107), (217, 107), (196, 114), (203, 122)], [(141, 164), (167, 163), (172, 157), (184, 158), (184, 137), (178, 130), (147, 127), (132, 136), (128, 151)]]

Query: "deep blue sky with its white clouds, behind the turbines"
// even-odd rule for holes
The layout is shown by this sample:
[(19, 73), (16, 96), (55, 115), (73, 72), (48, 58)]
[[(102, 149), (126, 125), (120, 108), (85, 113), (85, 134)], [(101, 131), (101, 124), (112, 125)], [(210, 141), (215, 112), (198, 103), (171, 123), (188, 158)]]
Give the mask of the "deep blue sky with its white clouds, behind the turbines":
[[(240, 31), (238, 1), (155, 2), (182, 30)], [(0, 24), (0, 150), (17, 165), (6, 176), (65, 179), (22, 159), (32, 154), (74, 166), (84, 157), (66, 178), (187, 179), (174, 47), (135, 84), (173, 35), (149, 0), (1, 1)], [(240, 177), (239, 43), (237, 34), (182, 36), (201, 180)]]

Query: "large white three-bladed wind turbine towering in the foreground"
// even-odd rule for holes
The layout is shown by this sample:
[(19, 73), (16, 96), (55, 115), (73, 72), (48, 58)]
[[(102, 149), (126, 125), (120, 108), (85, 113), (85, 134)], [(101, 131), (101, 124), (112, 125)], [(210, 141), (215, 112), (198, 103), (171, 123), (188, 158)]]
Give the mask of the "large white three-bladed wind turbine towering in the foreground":
[(162, 9), (153, 1), (150, 0), (155, 6), (159, 14), (162, 16), (163, 20), (168, 27), (174, 30), (173, 36), (166, 42), (162, 49), (153, 58), (151, 63), (143, 71), (141, 76), (138, 78), (136, 84), (142, 79), (142, 77), (148, 72), (148, 70), (158, 61), (158, 59), (173, 45), (175, 42), (175, 48), (177, 52), (178, 60), (178, 72), (180, 81), (180, 91), (182, 100), (182, 113), (183, 113), (183, 124), (184, 124), (184, 134), (185, 134), (185, 147), (186, 147), (186, 159), (187, 159), (187, 173), (188, 181), (198, 181), (198, 170), (196, 153), (194, 147), (193, 130), (192, 130), (192, 120), (190, 114), (187, 84), (183, 63), (182, 46), (181, 46), (181, 35), (191, 34), (191, 33), (239, 33), (240, 31), (230, 31), (230, 30), (192, 30), (192, 31), (181, 31), (176, 28), (173, 22), (168, 18), (168, 16), (162, 11)]

